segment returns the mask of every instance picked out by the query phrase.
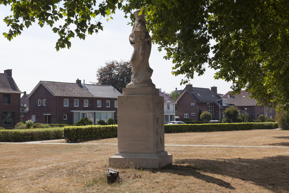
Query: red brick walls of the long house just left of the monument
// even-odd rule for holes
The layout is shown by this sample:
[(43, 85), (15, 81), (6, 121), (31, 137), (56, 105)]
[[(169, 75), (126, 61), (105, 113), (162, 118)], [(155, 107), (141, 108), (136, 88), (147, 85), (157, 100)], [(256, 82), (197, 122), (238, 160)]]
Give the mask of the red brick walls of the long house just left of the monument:
[[(40, 106), (38, 106), (40, 99)], [(43, 106), (43, 99), (46, 99), (46, 106)], [(64, 106), (64, 99), (68, 99), (68, 106)], [(78, 107), (74, 106), (74, 99), (78, 99)], [(88, 107), (84, 107), (84, 100), (88, 100)], [(97, 107), (97, 100), (101, 100), (101, 107)], [(106, 100), (110, 100), (110, 107), (105, 107)], [(116, 111), (114, 112), (114, 120), (116, 121), (117, 108), (114, 107), (116, 98), (91, 98), (91, 97), (56, 97), (53, 96), (42, 84), (29, 97), (29, 113), (24, 114), (24, 120), (30, 120), (31, 115), (36, 115), (36, 123), (47, 123), (47, 115), (51, 113), (50, 122), (56, 124), (66, 121), (73, 124), (74, 115), (71, 111)], [(67, 120), (64, 120), (67, 115)], [(94, 113), (95, 121), (95, 113)]]

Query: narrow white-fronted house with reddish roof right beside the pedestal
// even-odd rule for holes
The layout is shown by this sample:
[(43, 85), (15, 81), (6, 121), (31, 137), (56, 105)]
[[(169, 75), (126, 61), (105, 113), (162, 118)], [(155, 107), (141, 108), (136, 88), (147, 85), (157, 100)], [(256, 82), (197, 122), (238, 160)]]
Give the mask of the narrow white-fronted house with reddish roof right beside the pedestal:
[(161, 92), (160, 96), (164, 97), (164, 122), (175, 121), (175, 105), (177, 104), (173, 99)]

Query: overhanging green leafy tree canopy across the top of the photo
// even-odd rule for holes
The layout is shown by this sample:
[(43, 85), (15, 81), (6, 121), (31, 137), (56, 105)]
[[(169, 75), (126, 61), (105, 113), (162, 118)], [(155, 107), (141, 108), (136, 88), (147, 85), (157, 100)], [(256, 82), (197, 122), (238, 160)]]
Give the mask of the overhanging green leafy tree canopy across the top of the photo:
[[(195, 74), (201, 76), (208, 66), (217, 70), (216, 79), (232, 81), (234, 91), (246, 88), (259, 103), (283, 104), (289, 110), (288, 0), (0, 0), (0, 4), (11, 5), (13, 12), (4, 19), (10, 26), (5, 38), (11, 40), (32, 22), (41, 27), (46, 23), (60, 37), (57, 50), (71, 47), (75, 35), (85, 39), (86, 34), (103, 30), (95, 18), (112, 19), (121, 9), (133, 21), (133, 10), (142, 8), (153, 43), (166, 51), (165, 59), (172, 59), (172, 73), (186, 75), (182, 84)], [(56, 25), (59, 19), (63, 25)]]

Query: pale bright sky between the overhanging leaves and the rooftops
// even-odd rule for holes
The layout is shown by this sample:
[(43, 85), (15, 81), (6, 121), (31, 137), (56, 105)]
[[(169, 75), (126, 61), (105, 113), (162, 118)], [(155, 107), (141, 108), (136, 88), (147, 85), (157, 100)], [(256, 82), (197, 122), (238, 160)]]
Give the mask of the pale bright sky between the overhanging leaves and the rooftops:
[[(12, 77), (22, 92), (30, 93), (40, 80), (75, 82), (79, 78), (86, 84), (97, 82), (96, 71), (100, 66), (109, 60), (129, 60), (133, 52), (129, 43), (132, 27), (127, 25), (129, 19), (125, 19), (124, 13), (119, 10), (112, 15), (113, 20), (101, 20), (103, 31), (87, 35), (85, 40), (75, 35), (76, 38), (71, 39), (71, 48), (58, 52), (55, 49), (58, 34), (53, 33), (48, 25), (41, 28), (37, 23), (32, 23), (10, 42), (5, 39), (2, 33), (8, 32), (9, 27), (3, 19), (9, 15), (12, 15), (10, 7), (0, 5), (0, 72), (12, 69)], [(61, 21), (59, 23), (61, 25)], [(167, 93), (175, 88), (184, 89), (185, 85), (180, 85), (180, 82), (185, 76), (172, 75), (174, 65), (172, 60), (163, 59), (165, 55), (165, 51), (158, 51), (158, 45), (152, 45), (149, 64), (153, 69), (153, 83)], [(189, 83), (193, 87), (216, 86), (221, 94), (230, 91), (231, 83), (214, 80), (214, 73), (213, 69), (207, 68), (204, 75), (195, 74)]]

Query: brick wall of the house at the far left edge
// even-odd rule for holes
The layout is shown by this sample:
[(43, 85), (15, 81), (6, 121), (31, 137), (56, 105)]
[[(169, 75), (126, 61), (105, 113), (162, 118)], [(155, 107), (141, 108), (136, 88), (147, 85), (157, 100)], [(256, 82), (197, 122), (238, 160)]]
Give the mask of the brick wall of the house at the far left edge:
[[(10, 95), (10, 104), (3, 104), (3, 95)], [(20, 122), (20, 94), (18, 93), (0, 93), (0, 126), (1, 127), (11, 127), (15, 126), (18, 122)], [(14, 125), (11, 126), (3, 126), (2, 125), (2, 112), (3, 111), (13, 111), (14, 112)]]

